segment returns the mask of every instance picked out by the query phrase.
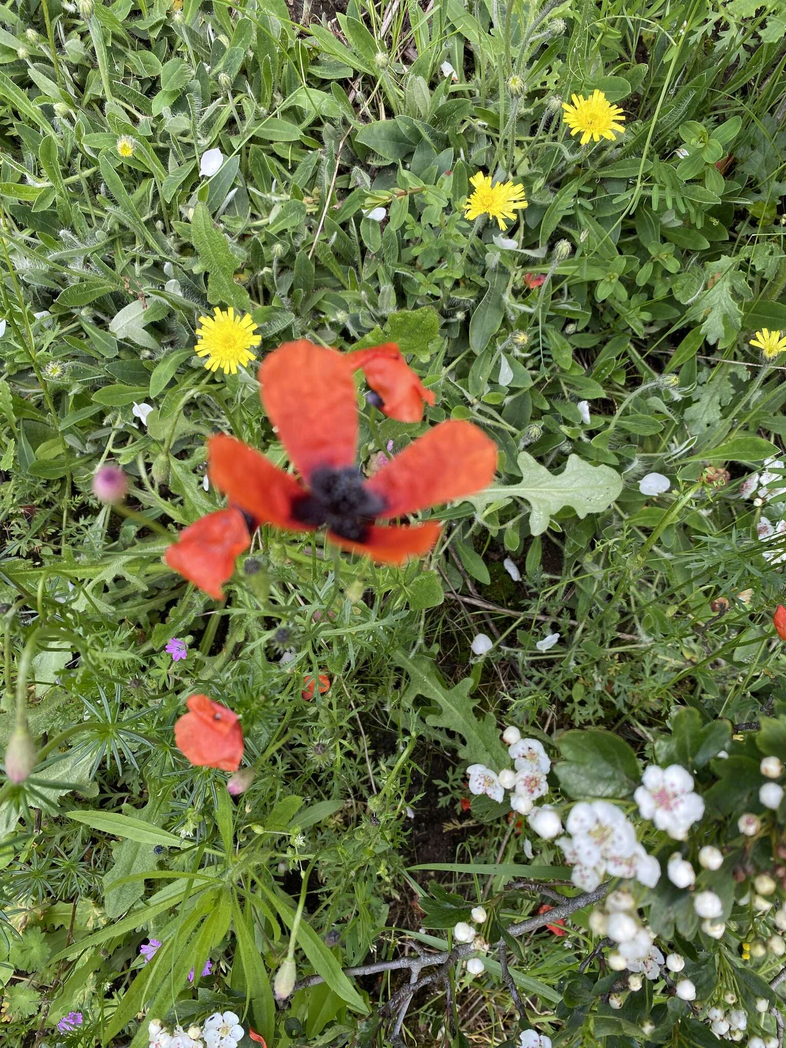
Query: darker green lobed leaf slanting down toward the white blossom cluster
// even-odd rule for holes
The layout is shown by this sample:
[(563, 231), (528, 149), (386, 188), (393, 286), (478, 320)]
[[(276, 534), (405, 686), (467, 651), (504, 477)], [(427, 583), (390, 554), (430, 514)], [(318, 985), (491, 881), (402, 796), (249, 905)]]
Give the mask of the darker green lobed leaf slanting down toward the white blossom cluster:
[(464, 739), (456, 747), (462, 760), (485, 764), (495, 771), (509, 765), (495, 716), (483, 714), (478, 718), (475, 715), (475, 700), (470, 695), (472, 678), (465, 677), (455, 687), (446, 689), (437, 678), (434, 663), (424, 655), (410, 657), (398, 651), (393, 655), (393, 661), (410, 678), (408, 699), (422, 695), (440, 707), (438, 713), (427, 716), (425, 723), (432, 727), (447, 728)]

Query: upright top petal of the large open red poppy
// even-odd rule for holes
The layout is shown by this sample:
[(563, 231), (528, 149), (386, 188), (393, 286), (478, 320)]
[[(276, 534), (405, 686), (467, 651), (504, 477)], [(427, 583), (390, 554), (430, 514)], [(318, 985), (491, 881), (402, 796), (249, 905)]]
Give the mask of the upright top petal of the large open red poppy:
[(306, 480), (320, 466), (354, 464), (357, 405), (343, 353), (286, 342), (265, 357), (259, 380), (267, 416)]

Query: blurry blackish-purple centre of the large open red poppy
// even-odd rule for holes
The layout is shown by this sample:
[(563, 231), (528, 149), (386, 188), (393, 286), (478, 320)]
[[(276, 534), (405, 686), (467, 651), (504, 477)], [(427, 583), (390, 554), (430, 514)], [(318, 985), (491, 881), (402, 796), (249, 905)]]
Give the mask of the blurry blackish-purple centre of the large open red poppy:
[(310, 527), (328, 527), (351, 542), (364, 542), (369, 525), (385, 509), (385, 500), (370, 492), (354, 466), (314, 470), (309, 494), (292, 506), (292, 517)]

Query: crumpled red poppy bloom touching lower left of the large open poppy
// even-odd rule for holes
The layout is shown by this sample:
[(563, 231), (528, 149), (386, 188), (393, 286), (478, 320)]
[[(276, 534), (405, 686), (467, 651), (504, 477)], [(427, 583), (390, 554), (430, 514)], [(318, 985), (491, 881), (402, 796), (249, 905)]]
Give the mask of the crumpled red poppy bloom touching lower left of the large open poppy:
[(221, 586), (232, 578), (235, 560), (248, 548), (250, 541), (240, 510), (219, 509), (184, 528), (163, 560), (173, 571), (220, 601)]

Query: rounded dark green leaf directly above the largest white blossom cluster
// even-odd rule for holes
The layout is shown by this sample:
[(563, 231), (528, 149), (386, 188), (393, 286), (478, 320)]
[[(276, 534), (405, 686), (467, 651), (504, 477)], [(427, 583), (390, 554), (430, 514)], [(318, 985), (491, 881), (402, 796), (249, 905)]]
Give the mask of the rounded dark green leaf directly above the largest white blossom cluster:
[(638, 760), (619, 736), (599, 728), (565, 732), (556, 739), (565, 760), (554, 766), (563, 790), (576, 800), (630, 796), (641, 783)]

